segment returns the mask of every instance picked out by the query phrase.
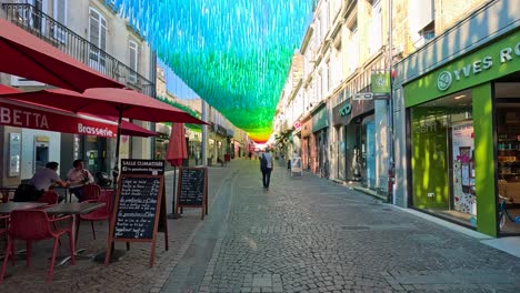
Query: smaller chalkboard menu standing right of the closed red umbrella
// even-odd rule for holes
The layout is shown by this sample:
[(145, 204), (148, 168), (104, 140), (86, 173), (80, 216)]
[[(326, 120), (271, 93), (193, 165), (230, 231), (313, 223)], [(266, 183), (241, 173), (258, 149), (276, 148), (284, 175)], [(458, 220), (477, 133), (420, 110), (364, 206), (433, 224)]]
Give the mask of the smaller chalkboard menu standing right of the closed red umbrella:
[(204, 213), (208, 214), (207, 168), (179, 169), (177, 210), (179, 208), (202, 208), (202, 219), (204, 218)]

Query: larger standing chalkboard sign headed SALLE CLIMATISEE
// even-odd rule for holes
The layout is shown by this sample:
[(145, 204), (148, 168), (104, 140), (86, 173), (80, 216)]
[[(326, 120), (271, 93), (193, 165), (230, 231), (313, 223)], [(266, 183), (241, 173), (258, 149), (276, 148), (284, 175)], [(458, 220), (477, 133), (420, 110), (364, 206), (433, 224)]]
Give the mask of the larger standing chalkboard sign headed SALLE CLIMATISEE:
[(164, 161), (121, 160), (104, 264), (110, 261), (113, 242), (151, 242), (150, 266), (153, 266), (159, 222), (168, 250)]

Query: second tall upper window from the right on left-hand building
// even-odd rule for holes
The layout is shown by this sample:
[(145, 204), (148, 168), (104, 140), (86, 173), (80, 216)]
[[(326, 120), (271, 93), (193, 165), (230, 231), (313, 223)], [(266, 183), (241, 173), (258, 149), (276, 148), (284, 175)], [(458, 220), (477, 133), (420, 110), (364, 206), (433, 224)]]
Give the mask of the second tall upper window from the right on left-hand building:
[(89, 9), (89, 64), (98, 71), (104, 72), (107, 51), (107, 19), (96, 9)]

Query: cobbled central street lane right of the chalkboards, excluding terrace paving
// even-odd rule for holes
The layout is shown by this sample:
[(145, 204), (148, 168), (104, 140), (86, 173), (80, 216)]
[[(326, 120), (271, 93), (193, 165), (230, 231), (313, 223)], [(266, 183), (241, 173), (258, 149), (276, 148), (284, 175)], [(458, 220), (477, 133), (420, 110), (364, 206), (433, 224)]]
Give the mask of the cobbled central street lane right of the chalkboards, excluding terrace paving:
[(281, 163), (269, 190), (258, 161), (221, 171), (209, 216), (152, 292), (520, 291), (516, 256), (372, 196)]

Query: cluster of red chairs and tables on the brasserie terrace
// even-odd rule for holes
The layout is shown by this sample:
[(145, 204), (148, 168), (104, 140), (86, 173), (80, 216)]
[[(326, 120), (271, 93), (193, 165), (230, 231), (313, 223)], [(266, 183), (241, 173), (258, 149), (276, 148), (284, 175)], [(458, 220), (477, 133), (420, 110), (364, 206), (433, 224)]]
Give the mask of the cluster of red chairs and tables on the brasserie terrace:
[[(78, 243), (80, 219), (91, 222), (92, 232), (94, 221), (99, 225), (98, 230), (108, 231), (113, 190), (101, 190), (96, 184), (91, 184), (88, 190), (89, 200), (82, 202), (74, 200), (58, 203), (58, 193), (51, 190), (34, 202), (0, 203), (0, 247), (2, 249), (0, 283), (4, 277), (22, 270), (19, 264), (21, 257), (26, 259), (27, 265), (23, 267), (29, 269), (32, 266), (31, 259), (39, 259), (37, 263), (41, 264), (47, 262), (41, 257), (51, 256), (50, 263), (48, 262), (48, 281), (53, 280), (56, 267), (69, 261), (73, 265), (76, 255), (81, 256), (80, 253), (86, 251), (86, 249), (78, 249), (84, 245)], [(51, 239), (54, 241), (50, 241)], [(91, 240), (87, 235), (83, 239), (86, 242)], [(103, 244), (96, 245), (98, 252), (104, 250)], [(87, 255), (87, 259), (92, 257)], [(33, 274), (41, 274), (43, 277), (42, 273)]]

